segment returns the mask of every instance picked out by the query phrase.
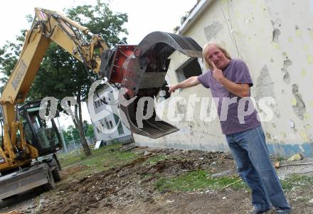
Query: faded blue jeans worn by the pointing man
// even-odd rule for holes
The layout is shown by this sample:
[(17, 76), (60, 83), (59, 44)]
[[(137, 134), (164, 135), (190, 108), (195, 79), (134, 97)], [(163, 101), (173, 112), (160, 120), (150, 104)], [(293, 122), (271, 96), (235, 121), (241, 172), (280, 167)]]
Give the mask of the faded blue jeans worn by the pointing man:
[(273, 168), (262, 126), (227, 134), (240, 178), (248, 184), (256, 210), (268, 210), (271, 204), (278, 210), (290, 210), (282, 185)]

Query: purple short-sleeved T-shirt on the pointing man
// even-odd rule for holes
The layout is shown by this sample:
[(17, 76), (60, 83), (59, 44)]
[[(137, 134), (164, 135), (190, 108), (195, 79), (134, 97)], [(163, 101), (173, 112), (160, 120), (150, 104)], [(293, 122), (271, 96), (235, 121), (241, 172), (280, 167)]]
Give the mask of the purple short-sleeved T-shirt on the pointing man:
[[(228, 63), (227, 67), (223, 70), (223, 75), (232, 82), (247, 83), (250, 87), (253, 86), (249, 69), (243, 60), (230, 60), (230, 63)], [(260, 122), (257, 119), (257, 112), (254, 109), (252, 101), (250, 101), (249, 98), (245, 102), (242, 100), (241, 104), (243, 104), (242, 107), (244, 107), (244, 109), (240, 108), (238, 111), (240, 97), (233, 95), (232, 92), (228, 91), (226, 87), (215, 80), (211, 70), (203, 73), (203, 75), (199, 75), (198, 80), (204, 87), (211, 89), (212, 96), (214, 97), (213, 99), (216, 102), (216, 107), (218, 109), (218, 117), (220, 118), (223, 134), (243, 132), (260, 125)], [(251, 107), (253, 107), (252, 110)], [(250, 111), (251, 114), (245, 113), (247, 111)], [(223, 112), (222, 115), (221, 112)], [(243, 117), (245, 114), (248, 115)]]

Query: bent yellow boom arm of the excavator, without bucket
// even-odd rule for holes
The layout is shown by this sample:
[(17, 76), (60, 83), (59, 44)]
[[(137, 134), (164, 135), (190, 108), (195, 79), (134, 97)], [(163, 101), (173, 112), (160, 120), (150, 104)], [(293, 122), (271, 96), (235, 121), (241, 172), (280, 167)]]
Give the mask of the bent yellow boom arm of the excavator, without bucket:
[[(2, 105), (6, 102), (14, 104), (25, 100), (51, 41), (95, 72), (100, 69), (101, 62), (100, 55), (94, 54), (95, 48), (100, 48), (100, 53), (108, 49), (99, 35), (93, 36), (87, 28), (58, 12), (38, 8), (35, 12), (36, 17), (31, 30), (26, 34), (18, 63), (2, 92), (0, 100)], [(92, 36), (90, 43), (83, 39), (85, 36), (83, 33)]]

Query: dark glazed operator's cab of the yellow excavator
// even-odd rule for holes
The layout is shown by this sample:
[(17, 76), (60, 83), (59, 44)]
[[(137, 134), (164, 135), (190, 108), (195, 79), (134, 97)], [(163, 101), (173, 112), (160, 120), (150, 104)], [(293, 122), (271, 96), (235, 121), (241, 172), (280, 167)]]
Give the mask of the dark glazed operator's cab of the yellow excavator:
[(28, 102), (19, 108), (19, 114), (26, 141), (38, 150), (39, 156), (44, 156), (60, 150), (62, 141), (54, 119), (39, 116), (40, 105), (40, 101)]

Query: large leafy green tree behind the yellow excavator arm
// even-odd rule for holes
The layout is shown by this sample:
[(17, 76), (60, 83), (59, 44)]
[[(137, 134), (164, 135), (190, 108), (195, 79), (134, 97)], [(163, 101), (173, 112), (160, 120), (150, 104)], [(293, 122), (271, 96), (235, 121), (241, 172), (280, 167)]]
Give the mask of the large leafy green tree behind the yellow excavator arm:
[[(120, 34), (127, 34), (127, 30), (122, 28), (127, 22), (127, 14), (113, 14), (107, 4), (99, 0), (95, 6), (77, 6), (65, 10), (65, 13), (69, 18), (89, 28), (92, 33), (100, 34), (105, 38), (109, 47), (126, 42), (126, 38), (120, 38)], [(86, 37), (87, 41), (90, 41), (90, 37)], [(16, 64), (18, 53), (21, 51), (22, 38), (23, 35), (18, 36), (16, 43), (7, 43), (0, 48), (0, 69), (6, 75), (2, 80), (4, 82)], [(60, 101), (63, 97), (75, 97), (77, 105), (73, 107), (72, 119), (75, 128), (78, 129), (80, 143), (83, 145), (86, 156), (91, 152), (83, 130), (81, 99), (87, 97), (91, 82), (95, 79), (96, 75), (92, 72), (88, 73), (83, 63), (73, 58), (57, 44), (51, 43), (28, 95), (29, 100), (40, 100), (49, 96)]]

